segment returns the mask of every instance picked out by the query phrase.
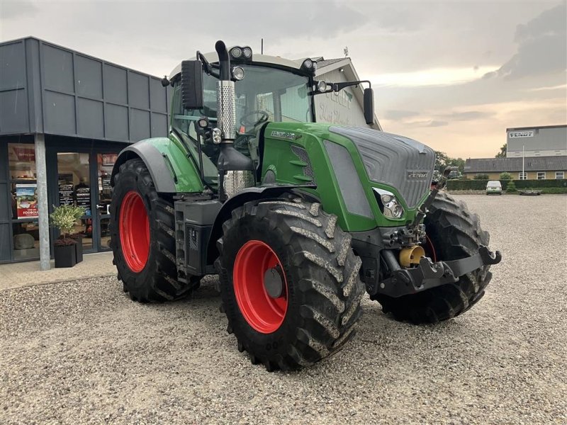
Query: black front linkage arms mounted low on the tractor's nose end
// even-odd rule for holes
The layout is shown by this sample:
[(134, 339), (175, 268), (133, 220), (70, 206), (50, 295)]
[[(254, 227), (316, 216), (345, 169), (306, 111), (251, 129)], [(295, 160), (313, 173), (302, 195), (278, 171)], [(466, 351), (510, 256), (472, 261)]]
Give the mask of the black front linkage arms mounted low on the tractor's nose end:
[(378, 293), (401, 297), (457, 282), (459, 276), (477, 268), (500, 263), (502, 256), (500, 251), (492, 252), (481, 245), (478, 253), (460, 260), (433, 263), (429, 258), (422, 257), (420, 265), (415, 268), (400, 268), (393, 251), (389, 249), (383, 251), (383, 259), (391, 270), (391, 277), (380, 283)]

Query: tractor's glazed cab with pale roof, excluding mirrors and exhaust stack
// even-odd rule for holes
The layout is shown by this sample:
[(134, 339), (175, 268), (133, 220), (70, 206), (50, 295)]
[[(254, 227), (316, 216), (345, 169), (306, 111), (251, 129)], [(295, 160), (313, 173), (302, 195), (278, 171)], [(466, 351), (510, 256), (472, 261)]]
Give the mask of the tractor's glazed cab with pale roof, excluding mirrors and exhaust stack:
[[(236, 47), (239, 49), (239, 47)], [(242, 49), (241, 49), (242, 50)], [(234, 57), (235, 48), (230, 52)], [(203, 55), (215, 66), (215, 54)], [(218, 62), (218, 57), (216, 59)], [(312, 123), (315, 121), (313, 96), (313, 71), (305, 70), (301, 63), (279, 57), (255, 55), (254, 61), (235, 61), (235, 140), (238, 152), (252, 160), (258, 159), (260, 130), (268, 122)], [(243, 63), (246, 62), (246, 63)], [(311, 62), (312, 67), (315, 62)], [(203, 179), (211, 186), (218, 183), (218, 156), (220, 144), (199, 127), (199, 120), (206, 119), (212, 128), (218, 123), (217, 81), (206, 70), (202, 71), (203, 106), (186, 108), (181, 95), (181, 65), (174, 69), (169, 81), (173, 87), (171, 130), (193, 148), (195, 157), (201, 152)]]

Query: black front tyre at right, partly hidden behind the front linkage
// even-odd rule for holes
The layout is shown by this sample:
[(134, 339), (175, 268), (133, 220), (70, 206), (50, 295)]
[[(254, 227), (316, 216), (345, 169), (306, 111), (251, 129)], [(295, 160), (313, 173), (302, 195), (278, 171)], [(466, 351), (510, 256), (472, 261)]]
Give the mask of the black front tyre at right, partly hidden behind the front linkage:
[[(478, 215), (471, 214), (463, 202), (447, 193), (437, 194), (425, 217), (425, 232), (431, 244), (426, 254), (435, 261), (462, 259), (478, 253), (478, 246), (488, 246), (490, 235), (483, 231)], [(415, 324), (437, 323), (466, 312), (484, 295), (492, 278), (490, 266), (479, 268), (459, 278), (456, 283), (438, 286), (422, 293), (388, 297), (376, 295), (385, 313), (396, 320)]]

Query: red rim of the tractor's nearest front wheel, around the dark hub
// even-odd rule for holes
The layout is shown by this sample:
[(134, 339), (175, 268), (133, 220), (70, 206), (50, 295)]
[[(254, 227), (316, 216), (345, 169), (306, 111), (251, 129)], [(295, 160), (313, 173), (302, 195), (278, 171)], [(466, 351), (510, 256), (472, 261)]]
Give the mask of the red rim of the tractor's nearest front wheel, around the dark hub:
[[(278, 266), (283, 275), (283, 288), (281, 295), (273, 298), (264, 286), (264, 275)], [(248, 324), (262, 334), (279, 329), (288, 310), (288, 283), (274, 250), (262, 241), (246, 242), (236, 255), (232, 281), (236, 302)]]

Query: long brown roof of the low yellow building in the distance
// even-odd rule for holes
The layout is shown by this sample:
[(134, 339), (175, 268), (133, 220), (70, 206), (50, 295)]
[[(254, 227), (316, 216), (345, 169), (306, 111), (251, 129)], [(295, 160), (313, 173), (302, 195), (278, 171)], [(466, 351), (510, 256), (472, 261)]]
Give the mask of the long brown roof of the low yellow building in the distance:
[[(524, 171), (564, 171), (567, 157), (529, 157), (524, 159)], [(467, 159), (465, 173), (501, 173), (522, 171), (522, 158), (476, 158)]]

